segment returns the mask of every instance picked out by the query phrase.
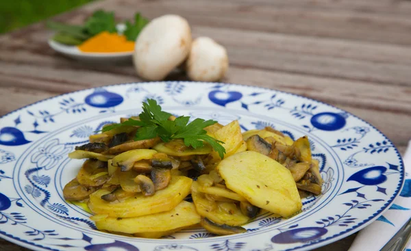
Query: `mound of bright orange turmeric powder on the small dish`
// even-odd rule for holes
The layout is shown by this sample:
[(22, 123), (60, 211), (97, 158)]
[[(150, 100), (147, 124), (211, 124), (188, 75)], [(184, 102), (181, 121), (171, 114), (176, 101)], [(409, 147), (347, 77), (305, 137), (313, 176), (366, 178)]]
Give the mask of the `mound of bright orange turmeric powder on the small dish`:
[(103, 31), (84, 41), (77, 48), (83, 52), (127, 52), (134, 51), (134, 42), (127, 41), (123, 35)]

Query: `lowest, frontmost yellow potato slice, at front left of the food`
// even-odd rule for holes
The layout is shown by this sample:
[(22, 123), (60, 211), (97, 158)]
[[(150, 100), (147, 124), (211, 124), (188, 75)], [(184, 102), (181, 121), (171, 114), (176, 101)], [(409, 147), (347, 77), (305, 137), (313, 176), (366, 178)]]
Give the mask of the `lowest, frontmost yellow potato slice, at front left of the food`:
[(182, 201), (169, 211), (139, 217), (92, 217), (99, 230), (121, 233), (158, 233), (191, 226), (201, 221), (194, 204)]

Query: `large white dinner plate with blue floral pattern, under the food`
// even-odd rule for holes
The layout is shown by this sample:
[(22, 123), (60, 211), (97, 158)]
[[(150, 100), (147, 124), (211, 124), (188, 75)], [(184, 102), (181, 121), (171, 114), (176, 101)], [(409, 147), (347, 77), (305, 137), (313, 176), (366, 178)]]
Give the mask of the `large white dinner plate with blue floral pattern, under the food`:
[[(239, 120), (244, 131), (271, 126), (294, 139), (308, 135), (323, 194), (303, 199), (295, 217), (267, 213), (239, 235), (215, 237), (200, 228), (163, 239), (99, 232), (89, 213), (62, 197), (82, 164), (67, 153), (103, 124), (139, 114), (147, 98), (175, 115)], [(34, 250), (310, 250), (377, 220), (404, 180), (397, 149), (364, 120), (295, 94), (223, 83), (127, 83), (55, 96), (1, 118), (0, 157), (0, 236)]]

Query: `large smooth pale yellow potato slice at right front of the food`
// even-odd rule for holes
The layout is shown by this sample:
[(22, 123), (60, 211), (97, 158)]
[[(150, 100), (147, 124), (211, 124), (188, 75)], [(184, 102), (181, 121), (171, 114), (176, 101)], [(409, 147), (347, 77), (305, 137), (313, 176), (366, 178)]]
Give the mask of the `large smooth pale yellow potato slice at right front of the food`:
[(301, 210), (301, 198), (290, 171), (265, 155), (253, 151), (236, 153), (223, 159), (217, 171), (229, 189), (256, 207), (283, 217)]

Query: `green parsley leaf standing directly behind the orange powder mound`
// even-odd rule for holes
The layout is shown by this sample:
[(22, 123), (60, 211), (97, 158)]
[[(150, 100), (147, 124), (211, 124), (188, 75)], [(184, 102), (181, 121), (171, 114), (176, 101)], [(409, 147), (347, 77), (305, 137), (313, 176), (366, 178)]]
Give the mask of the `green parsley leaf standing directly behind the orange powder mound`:
[(110, 33), (116, 32), (114, 12), (97, 10), (87, 19), (84, 27), (91, 36), (95, 36), (102, 31), (108, 31)]

